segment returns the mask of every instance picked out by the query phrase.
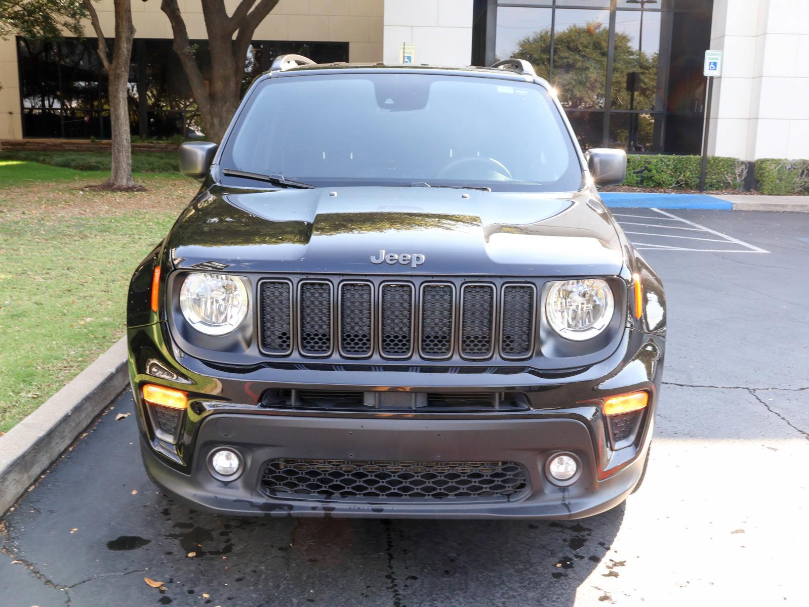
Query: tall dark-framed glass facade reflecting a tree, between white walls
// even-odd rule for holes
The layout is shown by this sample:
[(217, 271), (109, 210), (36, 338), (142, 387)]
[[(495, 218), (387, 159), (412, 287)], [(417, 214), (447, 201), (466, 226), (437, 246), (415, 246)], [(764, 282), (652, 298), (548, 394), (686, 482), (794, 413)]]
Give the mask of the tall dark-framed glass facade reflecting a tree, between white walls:
[(477, 0), (472, 60), (527, 59), (582, 148), (698, 154), (712, 0)]

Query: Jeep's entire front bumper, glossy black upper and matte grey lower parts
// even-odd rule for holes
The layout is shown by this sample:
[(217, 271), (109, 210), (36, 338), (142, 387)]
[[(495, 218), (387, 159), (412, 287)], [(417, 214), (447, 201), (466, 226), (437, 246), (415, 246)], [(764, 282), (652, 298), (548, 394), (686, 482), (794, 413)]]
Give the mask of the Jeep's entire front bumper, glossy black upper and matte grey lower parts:
[[(166, 344), (171, 342), (166, 337), (159, 325), (129, 331), (129, 370), (146, 470), (159, 486), (192, 508), (256, 516), (573, 519), (604, 512), (620, 504), (641, 478), (665, 347), (659, 336), (627, 330), (608, 360), (558, 377), (544, 376), (536, 369), (498, 373), (488, 368), (463, 374), (394, 366), (373, 371), (330, 365), (218, 369), (169, 353)], [(149, 371), (155, 363), (177, 373), (184, 383), (160, 381)], [(159, 440), (150, 428), (149, 405), (138, 398), (146, 381), (188, 391), (189, 407), (176, 445)], [(358, 414), (257, 405), (264, 390), (282, 386), (521, 390), (532, 408), (463, 415)], [(649, 392), (649, 406), (633, 444), (613, 450), (598, 399), (634, 390)], [(210, 474), (210, 453), (223, 446), (238, 451), (244, 461), (244, 472), (235, 480), (222, 481)], [(574, 453), (582, 465), (581, 477), (570, 487), (557, 487), (544, 473), (545, 462), (559, 451)], [(261, 487), (261, 478), (266, 462), (274, 458), (517, 462), (527, 470), (530, 491), (498, 500), (318, 500), (269, 495)]]

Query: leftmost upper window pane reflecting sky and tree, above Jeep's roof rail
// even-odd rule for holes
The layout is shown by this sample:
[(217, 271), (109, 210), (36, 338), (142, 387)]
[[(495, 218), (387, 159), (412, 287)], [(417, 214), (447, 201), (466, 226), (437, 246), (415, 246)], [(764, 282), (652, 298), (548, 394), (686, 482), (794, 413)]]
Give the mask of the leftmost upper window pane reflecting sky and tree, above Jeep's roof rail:
[(538, 76), (549, 79), (552, 17), (553, 10), (549, 8), (499, 7), (497, 60), (527, 59)]

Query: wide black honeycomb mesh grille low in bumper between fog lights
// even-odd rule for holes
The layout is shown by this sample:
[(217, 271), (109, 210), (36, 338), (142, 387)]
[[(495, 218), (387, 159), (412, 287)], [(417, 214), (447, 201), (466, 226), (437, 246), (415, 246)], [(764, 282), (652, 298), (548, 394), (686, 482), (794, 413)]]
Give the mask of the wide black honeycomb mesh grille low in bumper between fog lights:
[(355, 462), (274, 459), (261, 486), (275, 497), (433, 501), (510, 500), (525, 493), (527, 471), (516, 462)]

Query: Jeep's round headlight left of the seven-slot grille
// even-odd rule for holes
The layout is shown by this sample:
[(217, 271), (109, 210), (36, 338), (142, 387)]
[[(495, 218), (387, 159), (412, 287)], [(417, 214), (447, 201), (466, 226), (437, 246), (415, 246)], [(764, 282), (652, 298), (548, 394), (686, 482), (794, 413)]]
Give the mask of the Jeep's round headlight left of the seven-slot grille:
[(248, 314), (244, 282), (227, 274), (189, 274), (180, 288), (180, 310), (205, 335), (230, 333)]

